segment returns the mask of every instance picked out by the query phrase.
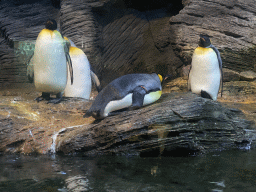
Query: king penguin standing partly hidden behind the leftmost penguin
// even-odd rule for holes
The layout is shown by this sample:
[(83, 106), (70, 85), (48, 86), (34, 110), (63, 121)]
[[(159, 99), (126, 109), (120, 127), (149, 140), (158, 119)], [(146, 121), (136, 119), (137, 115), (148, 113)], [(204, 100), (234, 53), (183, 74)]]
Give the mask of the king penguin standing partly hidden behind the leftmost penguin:
[(91, 79), (95, 82), (96, 89), (98, 92), (101, 90), (100, 81), (97, 75), (92, 72), (89, 60), (87, 59), (84, 52), (77, 48), (75, 44), (64, 37), (64, 39), (69, 43), (69, 55), (71, 57), (73, 66), (73, 76), (76, 81), (71, 85), (70, 75), (68, 73), (68, 82), (64, 90), (65, 97), (81, 97), (84, 99), (90, 98), (91, 93)]

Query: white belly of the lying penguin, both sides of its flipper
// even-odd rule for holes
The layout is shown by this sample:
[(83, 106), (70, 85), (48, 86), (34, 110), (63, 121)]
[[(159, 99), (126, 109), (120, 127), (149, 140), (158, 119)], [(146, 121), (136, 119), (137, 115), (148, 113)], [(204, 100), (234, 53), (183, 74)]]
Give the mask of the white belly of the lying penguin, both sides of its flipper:
[[(161, 97), (162, 91), (150, 92), (144, 96), (143, 106), (157, 101)], [(104, 117), (112, 111), (117, 111), (132, 106), (132, 93), (126, 95), (123, 99), (110, 101), (104, 110)]]

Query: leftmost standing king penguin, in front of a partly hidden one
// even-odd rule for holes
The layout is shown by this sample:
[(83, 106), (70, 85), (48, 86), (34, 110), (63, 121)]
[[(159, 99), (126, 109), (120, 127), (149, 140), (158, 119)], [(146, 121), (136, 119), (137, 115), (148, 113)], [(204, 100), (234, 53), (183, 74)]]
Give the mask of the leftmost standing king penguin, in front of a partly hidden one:
[[(42, 96), (36, 98), (59, 103), (67, 84), (67, 64), (73, 84), (73, 68), (69, 55), (69, 47), (60, 32), (57, 31), (57, 22), (47, 20), (35, 43), (35, 51), (28, 65), (27, 75), (34, 81), (37, 91)], [(50, 94), (56, 94), (56, 99), (50, 99)]]

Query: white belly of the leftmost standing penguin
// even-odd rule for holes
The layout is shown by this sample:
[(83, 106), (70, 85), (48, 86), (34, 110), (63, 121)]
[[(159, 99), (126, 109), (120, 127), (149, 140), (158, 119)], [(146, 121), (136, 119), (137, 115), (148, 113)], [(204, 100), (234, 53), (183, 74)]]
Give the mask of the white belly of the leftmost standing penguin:
[(36, 90), (63, 92), (67, 83), (67, 64), (61, 37), (39, 37), (33, 57)]

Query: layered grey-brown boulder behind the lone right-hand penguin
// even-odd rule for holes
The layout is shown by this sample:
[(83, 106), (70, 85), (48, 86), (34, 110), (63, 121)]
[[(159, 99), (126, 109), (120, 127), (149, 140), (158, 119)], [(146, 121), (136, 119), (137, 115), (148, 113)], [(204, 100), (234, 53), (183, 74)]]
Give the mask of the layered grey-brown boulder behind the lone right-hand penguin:
[(170, 18), (171, 44), (175, 53), (190, 64), (199, 34), (211, 36), (223, 66), (235, 71), (254, 70), (256, 39), (255, 2), (236, 0), (190, 0)]

